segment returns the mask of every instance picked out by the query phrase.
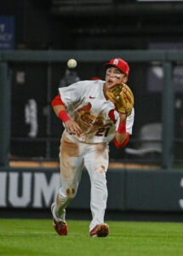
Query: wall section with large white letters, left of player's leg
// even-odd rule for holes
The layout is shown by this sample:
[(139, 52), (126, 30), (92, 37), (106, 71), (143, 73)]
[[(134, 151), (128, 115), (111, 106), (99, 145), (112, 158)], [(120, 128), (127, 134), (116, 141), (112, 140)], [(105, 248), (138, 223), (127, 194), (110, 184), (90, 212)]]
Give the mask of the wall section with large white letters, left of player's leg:
[(0, 207), (49, 207), (59, 188), (57, 172), (0, 172)]

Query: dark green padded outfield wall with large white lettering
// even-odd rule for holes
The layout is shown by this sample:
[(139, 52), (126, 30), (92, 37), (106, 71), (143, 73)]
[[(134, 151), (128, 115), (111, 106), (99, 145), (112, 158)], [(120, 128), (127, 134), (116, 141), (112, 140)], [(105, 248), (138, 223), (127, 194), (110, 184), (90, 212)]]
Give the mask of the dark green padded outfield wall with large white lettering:
[[(122, 211), (183, 210), (182, 170), (109, 169), (107, 209)], [(1, 208), (48, 208), (60, 187), (60, 172), (49, 168), (1, 168)], [(89, 209), (90, 182), (84, 169), (71, 209)]]

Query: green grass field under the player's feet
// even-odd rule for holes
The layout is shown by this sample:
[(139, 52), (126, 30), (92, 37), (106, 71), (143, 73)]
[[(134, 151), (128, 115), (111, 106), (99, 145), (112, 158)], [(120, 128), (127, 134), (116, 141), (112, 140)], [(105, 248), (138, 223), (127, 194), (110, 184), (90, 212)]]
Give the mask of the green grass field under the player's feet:
[(108, 237), (90, 238), (89, 221), (67, 221), (58, 236), (52, 220), (0, 218), (0, 255), (183, 255), (183, 224), (109, 221)]

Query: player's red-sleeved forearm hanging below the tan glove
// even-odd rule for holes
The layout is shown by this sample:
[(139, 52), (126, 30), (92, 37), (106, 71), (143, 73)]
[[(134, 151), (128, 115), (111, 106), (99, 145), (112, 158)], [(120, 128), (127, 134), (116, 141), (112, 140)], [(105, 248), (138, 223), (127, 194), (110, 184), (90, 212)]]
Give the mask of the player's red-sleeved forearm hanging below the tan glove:
[(117, 148), (124, 148), (129, 142), (129, 132), (126, 131), (126, 119), (125, 113), (119, 113), (120, 121), (114, 138), (114, 143)]

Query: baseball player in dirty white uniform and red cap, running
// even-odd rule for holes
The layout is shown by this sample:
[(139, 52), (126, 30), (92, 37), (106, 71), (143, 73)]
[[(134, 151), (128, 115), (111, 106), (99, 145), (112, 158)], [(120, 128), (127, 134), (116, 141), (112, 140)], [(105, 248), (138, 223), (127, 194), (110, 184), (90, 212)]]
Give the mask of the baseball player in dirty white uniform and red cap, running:
[[(60, 94), (52, 101), (54, 113), (66, 128), (60, 143), (61, 187), (51, 206), (54, 230), (60, 236), (67, 235), (66, 206), (77, 194), (83, 165), (89, 172), (91, 182), (93, 219), (89, 225), (90, 236), (109, 234), (109, 227), (104, 223), (108, 143), (114, 139), (117, 148), (128, 143), (134, 123), (134, 98), (124, 84), (129, 76), (128, 63), (116, 58), (105, 65), (106, 81), (79, 81), (60, 88)], [(107, 93), (118, 86), (116, 84), (126, 86), (121, 93), (124, 101), (120, 110), (117, 108), (119, 102), (112, 102), (112, 97)]]

